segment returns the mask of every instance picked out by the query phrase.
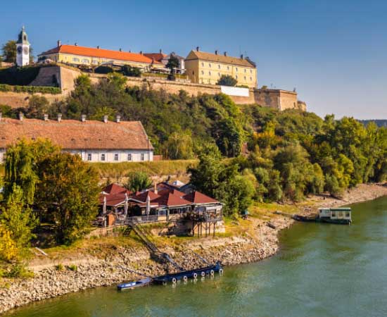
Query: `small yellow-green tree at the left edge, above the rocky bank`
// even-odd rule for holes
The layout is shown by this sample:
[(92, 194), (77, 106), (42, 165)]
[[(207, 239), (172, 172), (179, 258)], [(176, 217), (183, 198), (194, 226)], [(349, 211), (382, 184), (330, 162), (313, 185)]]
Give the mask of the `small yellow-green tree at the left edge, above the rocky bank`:
[(1, 208), (0, 223), (9, 232), (18, 249), (27, 247), (34, 237), (32, 229), (36, 221), (31, 209), (25, 207), (23, 190), (18, 185), (13, 185), (12, 193)]

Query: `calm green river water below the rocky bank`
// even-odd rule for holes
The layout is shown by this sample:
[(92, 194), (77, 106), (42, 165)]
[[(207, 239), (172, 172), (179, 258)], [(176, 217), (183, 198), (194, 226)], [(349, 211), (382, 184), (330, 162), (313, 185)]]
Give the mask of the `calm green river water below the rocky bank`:
[(387, 316), (387, 198), (353, 205), (353, 225), (297, 223), (277, 256), (186, 285), (87, 290), (18, 317)]

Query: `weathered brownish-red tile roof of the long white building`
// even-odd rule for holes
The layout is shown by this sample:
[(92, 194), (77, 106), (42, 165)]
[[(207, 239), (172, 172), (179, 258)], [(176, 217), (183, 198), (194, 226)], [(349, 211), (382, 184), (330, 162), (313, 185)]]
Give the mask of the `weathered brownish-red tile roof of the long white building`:
[(63, 149), (153, 149), (140, 121), (81, 122), (3, 118), (0, 121), (0, 149), (19, 139), (51, 139)]

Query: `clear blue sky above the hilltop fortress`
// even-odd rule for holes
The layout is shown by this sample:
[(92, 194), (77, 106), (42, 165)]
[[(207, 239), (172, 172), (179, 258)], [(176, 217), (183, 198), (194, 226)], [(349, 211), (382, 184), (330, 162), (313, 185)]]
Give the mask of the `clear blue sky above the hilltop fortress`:
[(18, 0), (1, 11), (0, 44), (25, 25), (34, 55), (58, 39), (181, 56), (217, 49), (249, 56), (259, 87), (296, 88), (321, 117), (387, 119), (386, 0)]

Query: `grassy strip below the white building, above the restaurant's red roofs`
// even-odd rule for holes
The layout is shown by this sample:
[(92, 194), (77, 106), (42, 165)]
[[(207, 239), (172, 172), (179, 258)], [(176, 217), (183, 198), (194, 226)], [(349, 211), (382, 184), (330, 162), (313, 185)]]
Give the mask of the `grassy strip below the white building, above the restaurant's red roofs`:
[(145, 172), (149, 176), (182, 175), (187, 168), (196, 166), (197, 160), (90, 163), (96, 168), (100, 178), (122, 178), (132, 172)]

